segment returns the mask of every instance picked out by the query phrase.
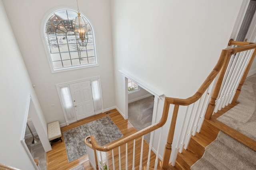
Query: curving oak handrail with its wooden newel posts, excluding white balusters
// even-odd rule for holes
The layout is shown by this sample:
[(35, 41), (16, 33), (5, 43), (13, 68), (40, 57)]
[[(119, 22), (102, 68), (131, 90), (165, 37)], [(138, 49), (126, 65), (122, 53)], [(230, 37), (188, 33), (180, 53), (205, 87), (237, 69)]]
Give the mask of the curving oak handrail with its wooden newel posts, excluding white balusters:
[[(193, 95), (190, 96), (189, 98), (186, 99), (180, 99), (180, 98), (170, 98), (170, 97), (166, 97), (164, 100), (164, 108), (163, 108), (163, 112), (162, 112), (162, 117), (160, 119), (160, 121), (158, 123), (155, 123), (153, 125), (150, 125), (128, 137), (125, 137), (123, 139), (121, 139), (120, 141), (117, 141), (115, 143), (112, 143), (110, 145), (107, 146), (99, 146), (95, 137), (93, 135), (87, 137), (84, 140), (84, 143), (86, 143), (87, 146), (92, 147), (94, 150), (100, 150), (103, 152), (108, 152), (116, 147), (119, 147), (121, 145), (124, 145), (125, 143), (128, 143), (134, 139), (137, 139), (139, 137), (142, 137), (143, 135), (146, 135), (147, 133), (150, 133), (160, 127), (162, 127), (168, 118), (168, 113), (169, 113), (169, 107), (170, 104), (174, 105), (174, 110), (172, 113), (172, 121), (170, 124), (170, 129), (169, 129), (169, 133), (168, 133), (168, 137), (167, 137), (167, 143), (166, 143), (166, 147), (164, 150), (164, 156), (163, 156), (163, 161), (162, 161), (162, 168), (163, 169), (167, 169), (168, 168), (168, 164), (169, 164), (169, 159), (170, 159), (170, 153), (171, 153), (171, 146), (172, 146), (172, 141), (174, 138), (174, 129), (175, 129), (175, 125), (176, 125), (176, 119), (177, 119), (177, 115), (178, 115), (178, 108), (179, 106), (188, 106), (190, 104), (193, 104), (194, 102), (196, 102), (197, 100), (199, 100), (202, 95), (204, 94), (204, 92), (208, 89), (208, 87), (210, 86), (210, 84), (213, 82), (213, 80), (217, 77), (216, 80), (216, 84), (214, 86), (214, 90), (212, 92), (212, 96), (210, 99), (210, 102), (208, 104), (207, 110), (206, 110), (206, 115), (205, 117), (207, 119), (210, 119), (214, 107), (215, 107), (215, 100), (218, 96), (218, 93), (220, 91), (220, 87), (224, 78), (224, 74), (226, 72), (226, 69), (228, 67), (228, 63), (230, 61), (231, 55), (234, 55), (238, 52), (241, 51), (247, 51), (250, 49), (254, 49), (254, 53), (253, 55), (256, 55), (256, 43), (247, 43), (247, 42), (239, 42), (239, 41), (233, 41), (232, 39), (229, 41), (230, 45), (243, 45), (243, 46), (238, 46), (238, 47), (234, 47), (234, 48), (226, 48), (222, 50), (222, 53), (218, 59), (217, 64), (215, 65), (215, 67), (213, 68), (213, 70), (210, 72), (210, 74), (208, 75), (208, 77), (206, 78), (206, 80), (204, 80), (204, 82), (202, 83), (202, 85), (200, 86), (200, 88), (197, 90), (197, 92)], [(251, 60), (254, 59), (254, 56)], [(248, 68), (246, 69), (246, 71), (248, 72), (248, 69), (250, 68), (250, 66), (248, 66)], [(246, 74), (247, 75), (247, 74)], [(87, 142), (87, 139), (90, 138), (91, 139), (91, 144)]]

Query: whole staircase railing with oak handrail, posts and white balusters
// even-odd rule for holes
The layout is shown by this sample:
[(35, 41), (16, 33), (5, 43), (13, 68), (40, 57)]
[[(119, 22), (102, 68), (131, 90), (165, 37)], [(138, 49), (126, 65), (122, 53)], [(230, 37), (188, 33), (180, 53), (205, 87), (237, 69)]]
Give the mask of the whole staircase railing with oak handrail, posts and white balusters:
[[(128, 169), (128, 150), (127, 144), (134, 141), (134, 149), (135, 149), (135, 140), (142, 137), (142, 145), (143, 145), (143, 137), (147, 133), (153, 134), (156, 129), (161, 128), (160, 131), (160, 139), (158, 142), (158, 147), (156, 150), (156, 160), (154, 169), (156, 170), (158, 165), (158, 154), (160, 149), (160, 140), (162, 138), (162, 126), (166, 123), (170, 106), (172, 106), (172, 120), (170, 123), (170, 129), (168, 132), (167, 142), (164, 149), (164, 155), (162, 159), (161, 168), (166, 170), (169, 165), (169, 160), (172, 160), (172, 165), (175, 165), (176, 157), (178, 152), (182, 152), (183, 148), (186, 149), (188, 147), (188, 143), (190, 141), (191, 135), (195, 135), (196, 132), (200, 132), (200, 128), (202, 127), (202, 123), (204, 121), (204, 117), (207, 119), (211, 118), (211, 115), (214, 113), (215, 101), (217, 98), (223, 98), (221, 94), (229, 96), (224, 98), (224, 102), (219, 102), (221, 105), (225, 106), (226, 104), (232, 102), (236, 102), (236, 99), (239, 95), (240, 89), (244, 80), (248, 74), (252, 61), (256, 55), (256, 44), (247, 43), (247, 42), (238, 42), (233, 41), (232, 39), (229, 41), (229, 45), (240, 45), (239, 47), (227, 48), (223, 49), (220, 55), (220, 58), (215, 65), (214, 69), (210, 72), (206, 80), (197, 90), (197, 92), (186, 99), (179, 98), (170, 98), (166, 97), (164, 101), (164, 108), (162, 112), (162, 117), (158, 123), (150, 125), (149, 127), (142, 129), (120, 141), (112, 143), (107, 146), (99, 146), (94, 136), (89, 136), (84, 141), (88, 147), (91, 147), (95, 150), (97, 156), (98, 166), (103, 169), (101, 162), (103, 160), (98, 159), (101, 158), (101, 154), (98, 155), (96, 150), (102, 152), (112, 151), (112, 159), (113, 159), (113, 167), (114, 169), (114, 152), (113, 150), (119, 148), (121, 145), (126, 145), (126, 155), (120, 156), (119, 152), (119, 162), (121, 157), (126, 159), (126, 169)], [(242, 45), (242, 46), (241, 46)], [(242, 63), (242, 64), (240, 64)], [(235, 65), (234, 65), (235, 64)], [(236, 69), (234, 69), (236, 68)], [(234, 72), (234, 75), (230, 75)], [(237, 77), (238, 78), (237, 78)], [(230, 82), (233, 82), (230, 84)], [(239, 85), (238, 85), (239, 84)], [(237, 86), (236, 86), (237, 85)], [(235, 94), (233, 94), (233, 87), (235, 87)], [(228, 91), (231, 89), (231, 91)], [(233, 90), (233, 91), (232, 91)], [(231, 97), (230, 97), (231, 96)], [(228, 100), (227, 100), (228, 99)], [(181, 115), (183, 120), (178, 123), (177, 117)], [(179, 127), (179, 128), (177, 128)], [(177, 131), (177, 129), (180, 129)], [(159, 133), (159, 132), (158, 132)], [(175, 136), (174, 136), (175, 135)], [(90, 139), (90, 142), (87, 140)], [(152, 141), (153, 135), (150, 137), (149, 150), (152, 150)], [(141, 147), (143, 148), (143, 146)], [(143, 150), (141, 151), (142, 155)], [(108, 157), (109, 154), (106, 154)], [(134, 164), (134, 150), (133, 150), (133, 161)], [(117, 158), (117, 156), (116, 156)], [(140, 170), (142, 169), (141, 165), (142, 157), (140, 157)], [(147, 162), (147, 170), (149, 169), (149, 161), (150, 160), (150, 152), (148, 154), (148, 162)], [(101, 165), (100, 165), (101, 164)], [(106, 160), (106, 166), (108, 167), (108, 158)], [(119, 163), (119, 167), (121, 163)], [(132, 166), (134, 169), (134, 165)]]

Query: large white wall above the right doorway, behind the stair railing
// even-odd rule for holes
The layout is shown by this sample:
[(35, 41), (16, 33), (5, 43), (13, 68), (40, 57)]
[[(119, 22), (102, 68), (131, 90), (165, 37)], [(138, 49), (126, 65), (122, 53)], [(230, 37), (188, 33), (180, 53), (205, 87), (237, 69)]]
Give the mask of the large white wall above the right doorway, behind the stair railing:
[[(120, 111), (125, 109), (124, 78), (118, 70), (168, 97), (194, 94), (227, 47), (241, 2), (112, 0), (116, 106)], [(159, 100), (157, 120), (163, 101)], [(169, 125), (170, 116), (161, 146), (166, 144)]]

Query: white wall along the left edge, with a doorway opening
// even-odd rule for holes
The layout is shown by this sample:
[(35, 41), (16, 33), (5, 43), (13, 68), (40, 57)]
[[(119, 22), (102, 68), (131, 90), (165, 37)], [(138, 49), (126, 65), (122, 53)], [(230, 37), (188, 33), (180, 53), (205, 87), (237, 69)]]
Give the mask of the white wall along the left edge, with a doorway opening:
[[(45, 123), (12, 28), (0, 0), (0, 163), (19, 169), (35, 169), (21, 140), (24, 138), (30, 95), (38, 116)], [(45, 129), (46, 124), (38, 124)], [(43, 132), (44, 133), (44, 132)], [(49, 142), (48, 142), (49, 143)], [(48, 144), (50, 146), (50, 144)]]

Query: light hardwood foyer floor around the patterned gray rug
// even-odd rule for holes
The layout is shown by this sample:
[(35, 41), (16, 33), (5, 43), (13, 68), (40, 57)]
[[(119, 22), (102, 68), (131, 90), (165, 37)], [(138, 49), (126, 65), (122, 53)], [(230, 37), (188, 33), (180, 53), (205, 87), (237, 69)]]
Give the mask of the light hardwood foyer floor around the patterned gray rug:
[[(127, 137), (128, 135), (131, 135), (132, 133), (136, 132), (136, 129), (132, 126), (132, 124), (128, 120), (124, 120), (122, 115), (116, 110), (113, 109), (110, 111), (110, 113), (101, 113), (86, 119), (83, 119), (81, 121), (78, 121), (76, 123), (72, 123), (69, 126), (61, 127), (61, 131), (67, 131), (69, 129), (72, 129), (74, 127), (78, 127), (80, 125), (83, 125), (85, 123), (88, 123), (90, 121), (94, 121), (96, 119), (100, 119), (102, 117), (105, 117), (109, 115), (110, 118), (114, 121), (118, 129), (122, 132), (124, 137)], [(47, 161), (47, 169), (48, 170), (69, 170), (70, 168), (78, 165), (83, 164), (84, 168), (86, 170), (92, 170), (92, 167), (90, 166), (88, 156), (87, 154), (85, 156), (82, 156), (70, 163), (68, 163), (67, 153), (66, 153), (66, 147), (64, 143), (64, 138), (62, 136), (63, 142), (57, 142), (53, 143), (52, 150), (46, 153), (46, 161)], [(135, 153), (135, 169), (138, 169), (139, 161), (140, 161), (140, 146), (141, 146), (141, 138), (136, 139), (136, 153)], [(121, 167), (122, 169), (125, 169), (125, 145), (120, 147), (121, 149)], [(147, 158), (148, 158), (148, 143), (144, 140), (143, 143), (143, 160), (142, 165), (146, 166)], [(133, 142), (128, 143), (128, 169), (132, 169), (132, 152), (133, 152)], [(109, 158), (109, 166), (110, 169), (112, 169), (112, 153), (108, 153)], [(150, 157), (150, 167), (154, 167), (156, 155), (154, 152), (151, 151), (151, 157)], [(119, 158), (118, 158), (118, 149), (114, 150), (114, 162), (115, 162), (115, 168), (119, 168)], [(142, 167), (143, 167), (142, 166)], [(159, 165), (158, 165), (159, 169)], [(171, 168), (171, 169), (180, 169), (180, 168)]]

